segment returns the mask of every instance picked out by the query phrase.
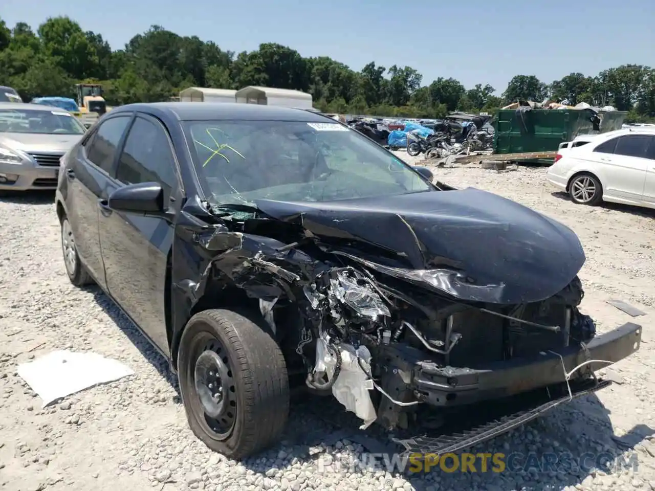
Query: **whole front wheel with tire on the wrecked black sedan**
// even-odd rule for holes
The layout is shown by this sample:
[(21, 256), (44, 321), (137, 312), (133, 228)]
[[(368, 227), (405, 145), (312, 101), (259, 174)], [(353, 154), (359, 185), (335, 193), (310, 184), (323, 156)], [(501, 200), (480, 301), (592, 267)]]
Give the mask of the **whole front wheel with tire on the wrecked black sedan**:
[(289, 415), (289, 378), (267, 326), (231, 310), (195, 314), (179, 344), (187, 420), (205, 445), (242, 459), (276, 443)]

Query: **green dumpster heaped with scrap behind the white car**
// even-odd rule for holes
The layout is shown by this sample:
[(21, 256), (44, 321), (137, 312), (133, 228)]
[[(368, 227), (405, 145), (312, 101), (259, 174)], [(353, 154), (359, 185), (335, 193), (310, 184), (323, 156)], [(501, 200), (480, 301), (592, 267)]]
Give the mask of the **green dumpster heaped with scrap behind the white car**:
[[(559, 144), (578, 135), (620, 130), (625, 111), (600, 111), (594, 119), (588, 109), (500, 109), (493, 120), (494, 154), (554, 152)], [(531, 160), (551, 164), (552, 159)]]

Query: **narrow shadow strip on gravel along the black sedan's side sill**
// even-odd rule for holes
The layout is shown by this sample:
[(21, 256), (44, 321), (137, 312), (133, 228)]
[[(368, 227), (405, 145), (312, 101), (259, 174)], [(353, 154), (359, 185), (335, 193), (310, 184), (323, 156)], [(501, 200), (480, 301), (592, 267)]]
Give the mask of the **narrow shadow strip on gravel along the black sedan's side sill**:
[(181, 395), (179, 393), (178, 377), (170, 371), (168, 361), (160, 354), (159, 351), (143, 336), (141, 331), (122, 313), (121, 309), (111, 300), (98, 286), (90, 286), (85, 288), (86, 291), (93, 294), (93, 299), (96, 304), (104, 310), (104, 312), (114, 321), (114, 323), (121, 329), (121, 331), (128, 337), (130, 342), (136, 346), (141, 352), (141, 355), (157, 369), (160, 376), (164, 378), (176, 391), (177, 395), (174, 397), (174, 403), (181, 404)]

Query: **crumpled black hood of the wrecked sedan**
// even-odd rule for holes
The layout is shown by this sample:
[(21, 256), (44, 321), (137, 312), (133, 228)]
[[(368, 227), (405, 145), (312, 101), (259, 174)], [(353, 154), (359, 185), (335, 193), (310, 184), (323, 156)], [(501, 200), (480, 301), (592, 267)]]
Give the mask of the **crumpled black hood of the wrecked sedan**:
[[(468, 188), (338, 202), (257, 200), (267, 215), (323, 238), (395, 251), (353, 257), (462, 300), (519, 304), (566, 287), (585, 261), (570, 228), (496, 194)], [(399, 263), (400, 261), (400, 263)], [(402, 266), (399, 267), (399, 264)]]

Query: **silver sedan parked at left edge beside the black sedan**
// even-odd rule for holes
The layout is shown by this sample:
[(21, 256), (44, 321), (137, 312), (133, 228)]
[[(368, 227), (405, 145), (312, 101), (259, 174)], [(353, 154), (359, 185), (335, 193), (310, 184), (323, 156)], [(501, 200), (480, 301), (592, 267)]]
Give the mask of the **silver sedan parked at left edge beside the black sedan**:
[(0, 102), (0, 191), (56, 189), (60, 159), (85, 131), (58, 107)]

